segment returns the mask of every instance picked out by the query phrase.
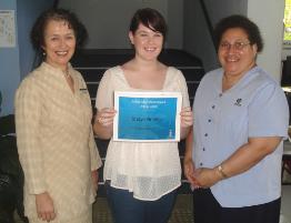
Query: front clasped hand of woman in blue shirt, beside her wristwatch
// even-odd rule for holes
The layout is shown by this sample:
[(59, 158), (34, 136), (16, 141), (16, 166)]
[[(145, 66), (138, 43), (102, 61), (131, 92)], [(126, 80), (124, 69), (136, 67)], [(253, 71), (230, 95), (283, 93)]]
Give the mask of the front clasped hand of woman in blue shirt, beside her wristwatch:
[(222, 180), (217, 169), (208, 169), (208, 168), (197, 169), (193, 175), (198, 182), (198, 185), (204, 189), (210, 187), (215, 183), (218, 183), (220, 180)]

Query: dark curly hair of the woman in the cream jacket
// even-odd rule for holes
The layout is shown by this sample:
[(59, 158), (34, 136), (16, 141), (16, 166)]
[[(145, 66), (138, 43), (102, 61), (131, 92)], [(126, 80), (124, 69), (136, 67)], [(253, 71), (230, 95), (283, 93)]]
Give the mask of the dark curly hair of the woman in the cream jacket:
[(33, 48), (41, 53), (42, 45), (44, 45), (44, 30), (49, 21), (64, 21), (68, 22), (70, 29), (73, 30), (77, 40), (77, 48), (84, 44), (88, 39), (88, 32), (84, 26), (79, 21), (77, 16), (66, 9), (48, 9), (43, 11), (37, 21), (34, 22), (31, 32), (30, 40)]

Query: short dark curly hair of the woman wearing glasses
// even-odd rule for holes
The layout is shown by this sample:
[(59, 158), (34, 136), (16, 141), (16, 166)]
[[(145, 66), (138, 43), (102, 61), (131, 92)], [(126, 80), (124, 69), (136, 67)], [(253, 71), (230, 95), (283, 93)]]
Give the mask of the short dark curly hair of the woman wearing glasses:
[(263, 40), (258, 26), (250, 19), (241, 14), (230, 16), (218, 22), (218, 24), (214, 28), (214, 39), (217, 49), (219, 48), (223, 33), (232, 28), (240, 28), (244, 30), (244, 32), (248, 34), (248, 39), (251, 45), (257, 44), (258, 52), (262, 51)]

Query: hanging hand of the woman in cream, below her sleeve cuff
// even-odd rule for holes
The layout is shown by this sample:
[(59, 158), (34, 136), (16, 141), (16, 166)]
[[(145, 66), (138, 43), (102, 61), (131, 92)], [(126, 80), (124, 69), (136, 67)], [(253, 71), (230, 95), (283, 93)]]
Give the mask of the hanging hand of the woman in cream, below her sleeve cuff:
[(42, 221), (50, 222), (56, 219), (53, 201), (48, 192), (36, 195), (38, 217)]

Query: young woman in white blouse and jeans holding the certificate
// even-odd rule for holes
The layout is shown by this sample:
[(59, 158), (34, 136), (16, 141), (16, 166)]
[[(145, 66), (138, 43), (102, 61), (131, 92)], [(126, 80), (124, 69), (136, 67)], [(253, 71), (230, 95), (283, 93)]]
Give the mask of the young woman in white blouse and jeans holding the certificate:
[(104, 164), (104, 181), (116, 223), (165, 223), (181, 184), (177, 142), (113, 141), (116, 111), (113, 93), (180, 92), (181, 138), (192, 125), (188, 89), (181, 71), (158, 61), (167, 32), (163, 17), (153, 9), (138, 10), (130, 24), (129, 39), (134, 58), (109, 69), (100, 82), (94, 132), (111, 139)]

